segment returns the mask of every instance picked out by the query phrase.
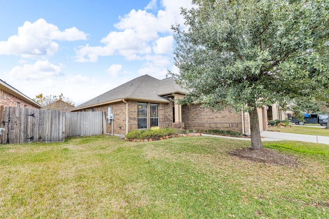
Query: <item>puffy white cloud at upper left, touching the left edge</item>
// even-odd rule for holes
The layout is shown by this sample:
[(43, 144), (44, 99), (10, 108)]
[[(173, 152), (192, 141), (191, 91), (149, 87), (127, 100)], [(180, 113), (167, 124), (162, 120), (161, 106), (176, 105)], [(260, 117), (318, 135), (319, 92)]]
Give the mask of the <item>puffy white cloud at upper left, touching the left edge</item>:
[(60, 31), (57, 26), (39, 19), (34, 23), (25, 22), (18, 28), (17, 35), (0, 42), (0, 54), (14, 54), (22, 57), (52, 56), (57, 53), (59, 45), (53, 40), (86, 40), (84, 32), (76, 27)]

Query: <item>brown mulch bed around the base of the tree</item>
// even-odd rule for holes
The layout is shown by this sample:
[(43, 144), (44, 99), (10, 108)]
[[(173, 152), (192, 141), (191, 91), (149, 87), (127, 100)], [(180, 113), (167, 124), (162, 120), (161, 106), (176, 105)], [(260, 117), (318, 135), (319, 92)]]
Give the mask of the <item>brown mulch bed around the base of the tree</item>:
[(242, 148), (230, 151), (231, 156), (236, 156), (241, 159), (246, 159), (255, 162), (270, 163), (274, 165), (282, 165), (289, 167), (298, 167), (299, 162), (295, 157), (280, 154), (276, 151), (262, 148), (259, 150), (251, 150), (251, 148)]

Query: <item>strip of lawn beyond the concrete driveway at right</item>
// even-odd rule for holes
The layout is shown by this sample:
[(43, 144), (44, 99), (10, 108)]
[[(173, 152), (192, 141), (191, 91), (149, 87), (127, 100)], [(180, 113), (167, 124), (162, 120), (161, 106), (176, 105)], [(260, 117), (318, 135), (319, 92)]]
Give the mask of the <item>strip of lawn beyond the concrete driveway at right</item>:
[(296, 134), (304, 134), (304, 135), (321, 135), (321, 136), (329, 136), (329, 129), (325, 129), (325, 126), (321, 127), (307, 127), (303, 125), (293, 125), (291, 127), (268, 127), (269, 131), (278, 131), (285, 133), (296, 133)]

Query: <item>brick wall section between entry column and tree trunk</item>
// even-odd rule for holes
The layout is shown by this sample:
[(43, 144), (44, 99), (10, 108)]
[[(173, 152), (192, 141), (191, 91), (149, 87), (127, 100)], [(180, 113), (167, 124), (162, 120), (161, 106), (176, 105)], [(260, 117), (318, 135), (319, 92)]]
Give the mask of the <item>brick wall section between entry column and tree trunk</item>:
[(182, 106), (182, 122), (192, 130), (232, 130), (242, 132), (242, 115), (235, 113), (232, 108), (225, 108), (221, 112), (212, 112), (199, 105)]

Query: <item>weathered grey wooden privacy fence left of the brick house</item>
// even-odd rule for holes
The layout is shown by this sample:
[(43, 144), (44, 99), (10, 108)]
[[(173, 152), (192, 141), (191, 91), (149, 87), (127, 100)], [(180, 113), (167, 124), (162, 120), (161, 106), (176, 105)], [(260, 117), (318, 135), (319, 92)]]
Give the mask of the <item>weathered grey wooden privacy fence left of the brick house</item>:
[(0, 143), (59, 142), (75, 136), (101, 135), (103, 112), (61, 112), (0, 106)]

